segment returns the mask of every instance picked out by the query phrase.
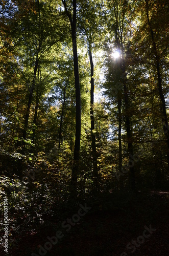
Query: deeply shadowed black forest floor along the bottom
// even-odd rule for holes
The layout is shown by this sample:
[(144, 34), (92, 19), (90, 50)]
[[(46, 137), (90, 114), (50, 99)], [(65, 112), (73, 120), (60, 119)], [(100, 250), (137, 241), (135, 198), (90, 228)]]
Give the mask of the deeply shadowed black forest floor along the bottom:
[[(78, 211), (78, 207), (70, 207), (71, 210), (63, 207), (60, 220), (57, 216), (46, 216), (35, 231), (21, 234), (10, 255), (169, 255), (169, 192), (109, 193), (79, 204), (81, 208), (87, 207), (86, 212)], [(74, 216), (78, 212), (84, 215), (80, 220)], [(77, 222), (68, 225), (67, 218), (72, 217)], [(55, 237), (56, 244), (46, 244), (47, 237)], [(49, 246), (50, 250), (39, 245)]]

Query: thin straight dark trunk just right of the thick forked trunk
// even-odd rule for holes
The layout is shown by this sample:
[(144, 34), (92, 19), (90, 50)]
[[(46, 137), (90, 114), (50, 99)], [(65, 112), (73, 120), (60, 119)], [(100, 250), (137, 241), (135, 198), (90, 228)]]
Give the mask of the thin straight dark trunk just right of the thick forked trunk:
[[(91, 46), (89, 46), (91, 49)], [(94, 130), (94, 111), (93, 111), (93, 105), (94, 105), (94, 65), (92, 60), (92, 53), (91, 50), (89, 50), (89, 57), (90, 57), (90, 121), (91, 121), (91, 146), (92, 146), (92, 156), (93, 156), (93, 179), (94, 179), (94, 188), (98, 189), (98, 159), (96, 155), (96, 145), (95, 145), (95, 134), (93, 133)]]

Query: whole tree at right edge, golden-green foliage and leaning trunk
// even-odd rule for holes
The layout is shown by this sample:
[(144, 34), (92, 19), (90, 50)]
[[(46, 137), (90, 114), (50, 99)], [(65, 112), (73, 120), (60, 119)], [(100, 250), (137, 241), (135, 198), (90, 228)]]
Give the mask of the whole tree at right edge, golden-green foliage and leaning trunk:
[[(168, 107), (166, 99), (168, 93), (166, 78), (168, 73), (168, 7), (166, 1), (141, 1), (138, 3), (136, 11), (137, 19), (136, 32), (133, 38), (133, 53), (135, 65), (139, 67), (137, 71), (139, 71), (140, 80), (146, 87), (142, 87), (144, 91), (141, 92), (144, 95), (144, 102), (149, 113), (148, 126), (150, 127), (150, 132), (147, 133), (146, 143), (151, 146), (153, 155), (158, 159), (157, 163), (161, 161), (159, 159), (159, 151), (156, 150), (157, 145), (162, 147), (162, 151), (166, 152), (164, 153), (166, 159), (163, 159), (163, 165), (165, 165), (165, 162), (168, 165)], [(146, 119), (147, 113), (145, 110), (143, 111)], [(162, 120), (164, 136), (161, 134), (160, 119)], [(163, 143), (164, 140), (166, 148)], [(158, 169), (157, 165), (155, 169)]]

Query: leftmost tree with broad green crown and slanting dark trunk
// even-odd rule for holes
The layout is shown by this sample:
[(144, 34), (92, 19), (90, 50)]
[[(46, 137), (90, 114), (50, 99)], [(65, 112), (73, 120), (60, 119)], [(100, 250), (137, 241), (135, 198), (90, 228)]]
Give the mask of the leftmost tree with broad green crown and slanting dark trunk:
[[(57, 27), (60, 22), (59, 11), (57, 8), (55, 9), (55, 12), (52, 10), (53, 6), (51, 5), (51, 2), (44, 3), (43, 1), (31, 1), (29, 5), (26, 4), (26, 6), (23, 6), (23, 3), (16, 1), (16, 4), (18, 11), (15, 12), (15, 19), (11, 21), (11, 33), (13, 34), (15, 49), (18, 48), (18, 52), (20, 52), (20, 65), (23, 66), (22, 75), (29, 90), (22, 135), (23, 140), (25, 140), (34, 91), (36, 91), (36, 89), (39, 93), (42, 91), (39, 88), (42, 83), (38, 83), (37, 81), (38, 72), (40, 72), (46, 63), (44, 56), (46, 59), (48, 58), (47, 54), (50, 53), (51, 48), (60, 41), (63, 36), (60, 34), (60, 29), (62, 27), (61, 23), (60, 28), (58, 29)], [(56, 19), (58, 20), (57, 26)], [(25, 45), (22, 47), (22, 50), (19, 51), (19, 47), (22, 46), (23, 40)], [(52, 71), (49, 73), (51, 74)], [(35, 112), (37, 112), (38, 108), (38, 98), (39, 96), (37, 96)], [(34, 124), (36, 122), (36, 113), (33, 122)]]

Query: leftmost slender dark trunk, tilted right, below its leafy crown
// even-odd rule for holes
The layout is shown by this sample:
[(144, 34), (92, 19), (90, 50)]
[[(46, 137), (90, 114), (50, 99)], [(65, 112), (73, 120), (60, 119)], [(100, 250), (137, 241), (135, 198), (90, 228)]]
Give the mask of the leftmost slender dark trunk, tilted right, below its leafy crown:
[(36, 61), (35, 61), (35, 68), (34, 68), (34, 77), (32, 81), (32, 87), (29, 89), (29, 100), (28, 100), (28, 105), (27, 105), (27, 112), (25, 115), (25, 124), (24, 124), (24, 129), (23, 129), (23, 139), (26, 139), (27, 136), (27, 128), (28, 128), (28, 121), (29, 121), (29, 115), (30, 115), (30, 108), (31, 108), (31, 103), (32, 103), (32, 98), (33, 98), (33, 91), (35, 88), (35, 82), (36, 82), (36, 73), (38, 69), (38, 63), (39, 63), (39, 58), (37, 55)]

